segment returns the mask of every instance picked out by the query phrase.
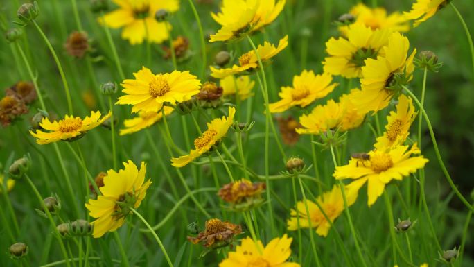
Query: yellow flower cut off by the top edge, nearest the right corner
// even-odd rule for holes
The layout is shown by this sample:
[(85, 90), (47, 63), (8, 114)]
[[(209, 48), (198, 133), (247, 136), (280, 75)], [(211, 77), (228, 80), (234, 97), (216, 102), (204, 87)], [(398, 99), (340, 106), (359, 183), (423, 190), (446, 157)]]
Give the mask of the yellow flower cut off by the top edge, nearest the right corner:
[(414, 20), (414, 27), (417, 27), (421, 22), (427, 21), (433, 17), (438, 10), (444, 8), (448, 1), (446, 0), (416, 0), (413, 3), (410, 12), (404, 12), (407, 19)]

